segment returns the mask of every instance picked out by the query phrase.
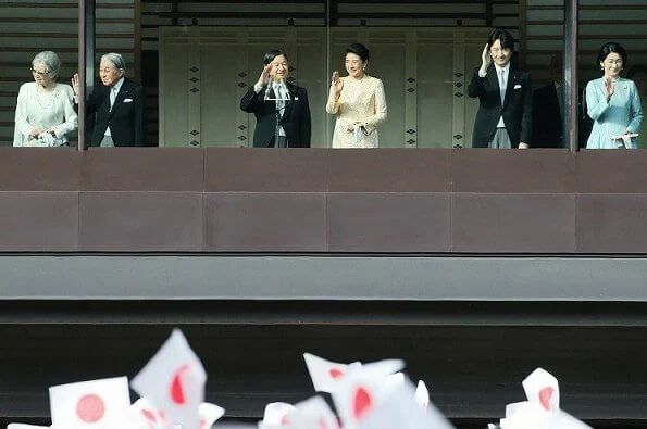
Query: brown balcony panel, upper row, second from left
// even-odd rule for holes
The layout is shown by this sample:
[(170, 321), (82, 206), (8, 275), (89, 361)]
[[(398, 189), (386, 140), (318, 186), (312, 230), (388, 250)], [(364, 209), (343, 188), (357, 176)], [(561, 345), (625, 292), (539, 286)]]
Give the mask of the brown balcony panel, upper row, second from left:
[(94, 148), (83, 153), (88, 191), (202, 191), (203, 152), (184, 148)]

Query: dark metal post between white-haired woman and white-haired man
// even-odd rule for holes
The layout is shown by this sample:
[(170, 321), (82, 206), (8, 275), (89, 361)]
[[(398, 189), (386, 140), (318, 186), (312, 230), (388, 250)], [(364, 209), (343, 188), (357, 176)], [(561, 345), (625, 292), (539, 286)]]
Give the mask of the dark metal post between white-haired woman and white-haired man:
[(78, 150), (86, 144), (86, 93), (91, 91), (95, 77), (96, 1), (78, 0)]

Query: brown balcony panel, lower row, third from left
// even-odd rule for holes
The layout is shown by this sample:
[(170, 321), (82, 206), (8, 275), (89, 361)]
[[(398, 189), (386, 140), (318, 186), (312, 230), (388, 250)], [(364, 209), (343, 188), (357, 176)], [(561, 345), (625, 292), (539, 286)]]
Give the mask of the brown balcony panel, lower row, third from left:
[(204, 250), (324, 252), (324, 193), (204, 194)]

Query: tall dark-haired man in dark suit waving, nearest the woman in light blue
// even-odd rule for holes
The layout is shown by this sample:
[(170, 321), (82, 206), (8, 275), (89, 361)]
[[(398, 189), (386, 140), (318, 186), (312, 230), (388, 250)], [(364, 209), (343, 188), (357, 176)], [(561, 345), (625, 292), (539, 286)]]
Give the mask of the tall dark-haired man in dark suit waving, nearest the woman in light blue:
[(533, 125), (533, 90), (527, 72), (511, 65), (514, 39), (494, 30), (474, 70), (468, 94), (478, 98), (474, 148), (528, 148)]

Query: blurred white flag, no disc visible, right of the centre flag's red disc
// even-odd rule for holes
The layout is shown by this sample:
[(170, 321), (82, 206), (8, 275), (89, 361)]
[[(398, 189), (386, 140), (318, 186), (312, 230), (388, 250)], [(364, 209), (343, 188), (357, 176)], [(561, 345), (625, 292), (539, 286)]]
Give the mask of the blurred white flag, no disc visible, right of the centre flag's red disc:
[[(375, 395), (375, 398), (378, 396)], [(373, 402), (356, 427), (358, 429), (453, 429), (433, 405), (430, 405), (426, 411), (420, 409), (413, 384), (409, 381)]]

